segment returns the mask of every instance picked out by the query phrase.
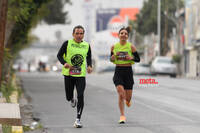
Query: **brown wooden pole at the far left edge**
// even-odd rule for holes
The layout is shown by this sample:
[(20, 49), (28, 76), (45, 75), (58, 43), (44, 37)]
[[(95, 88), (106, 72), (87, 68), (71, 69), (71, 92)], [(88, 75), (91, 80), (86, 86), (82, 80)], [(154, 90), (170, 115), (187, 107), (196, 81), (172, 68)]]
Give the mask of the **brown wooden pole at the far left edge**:
[(4, 55), (7, 9), (8, 9), (8, 0), (1, 0), (0, 1), (0, 85), (2, 80), (2, 65), (3, 65), (3, 55)]

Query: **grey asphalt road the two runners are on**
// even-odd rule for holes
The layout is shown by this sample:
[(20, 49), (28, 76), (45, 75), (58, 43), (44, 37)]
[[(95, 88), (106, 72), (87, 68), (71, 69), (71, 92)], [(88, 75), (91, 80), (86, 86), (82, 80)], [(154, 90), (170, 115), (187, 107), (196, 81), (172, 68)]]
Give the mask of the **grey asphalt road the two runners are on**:
[[(134, 76), (133, 105), (127, 122), (118, 124), (118, 97), (113, 73), (87, 76), (83, 128), (73, 123), (76, 109), (65, 100), (64, 79), (58, 73), (19, 73), (31, 96), (35, 115), (48, 133), (199, 133), (199, 80)], [(141, 84), (140, 79), (158, 84)]]

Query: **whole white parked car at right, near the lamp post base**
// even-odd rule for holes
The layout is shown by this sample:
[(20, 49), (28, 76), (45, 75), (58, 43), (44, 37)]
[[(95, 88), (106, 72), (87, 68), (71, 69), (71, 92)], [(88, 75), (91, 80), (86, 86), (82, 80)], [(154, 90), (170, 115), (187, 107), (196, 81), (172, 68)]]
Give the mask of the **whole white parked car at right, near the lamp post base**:
[(171, 77), (176, 77), (177, 67), (172, 58), (165, 56), (157, 56), (151, 64), (151, 74), (166, 74)]

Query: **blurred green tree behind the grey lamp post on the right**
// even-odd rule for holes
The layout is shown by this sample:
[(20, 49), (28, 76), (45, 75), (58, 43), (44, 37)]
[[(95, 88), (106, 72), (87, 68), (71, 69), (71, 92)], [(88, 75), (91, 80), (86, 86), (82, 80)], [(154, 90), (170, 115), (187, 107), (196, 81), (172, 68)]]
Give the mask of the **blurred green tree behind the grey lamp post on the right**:
[[(150, 33), (157, 34), (157, 0), (148, 0), (137, 15), (135, 29), (142, 35)], [(178, 4), (178, 5), (177, 5)], [(171, 18), (175, 18), (178, 7), (183, 7), (182, 0), (162, 0), (161, 1), (161, 55), (166, 53), (167, 39), (173, 28), (177, 28)]]

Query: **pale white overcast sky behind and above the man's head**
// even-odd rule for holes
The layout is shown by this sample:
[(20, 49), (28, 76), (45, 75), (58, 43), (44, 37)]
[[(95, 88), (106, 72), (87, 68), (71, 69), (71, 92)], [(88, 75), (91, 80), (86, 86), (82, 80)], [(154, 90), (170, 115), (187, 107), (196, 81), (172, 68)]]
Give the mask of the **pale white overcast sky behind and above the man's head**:
[[(55, 42), (56, 31), (61, 31), (61, 38), (67, 40), (72, 37), (72, 29), (76, 25), (85, 26), (85, 14), (86, 12), (95, 12), (97, 8), (128, 8), (136, 7), (142, 8), (143, 0), (71, 0), (72, 5), (66, 4), (64, 11), (69, 12), (71, 19), (70, 25), (47, 25), (40, 23), (32, 30), (32, 34), (37, 36), (41, 42)], [(87, 2), (86, 2), (87, 1)], [(89, 6), (89, 7), (88, 7)], [(86, 11), (87, 8), (88, 10)], [(94, 15), (92, 15), (94, 17)]]

